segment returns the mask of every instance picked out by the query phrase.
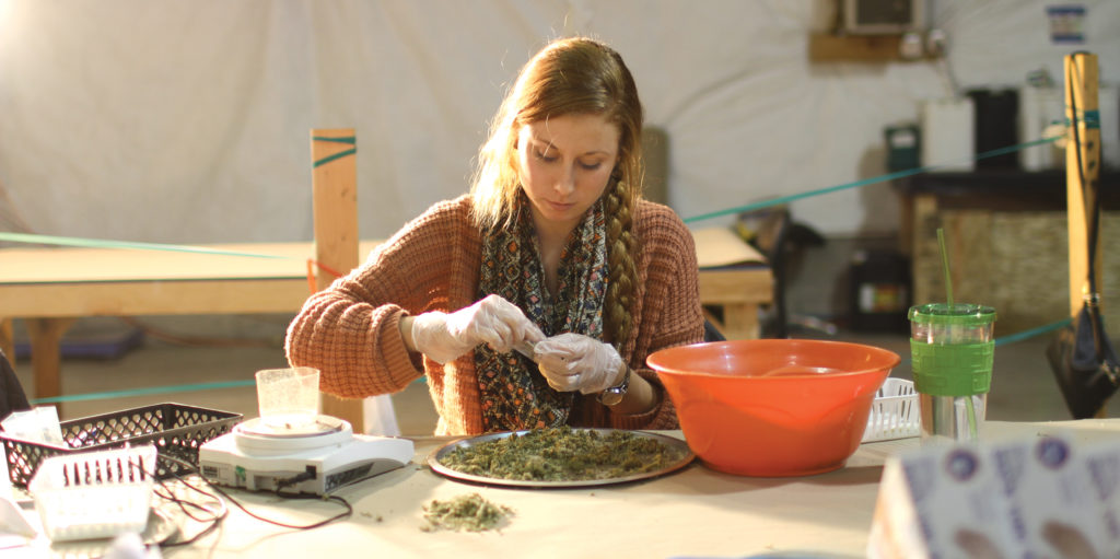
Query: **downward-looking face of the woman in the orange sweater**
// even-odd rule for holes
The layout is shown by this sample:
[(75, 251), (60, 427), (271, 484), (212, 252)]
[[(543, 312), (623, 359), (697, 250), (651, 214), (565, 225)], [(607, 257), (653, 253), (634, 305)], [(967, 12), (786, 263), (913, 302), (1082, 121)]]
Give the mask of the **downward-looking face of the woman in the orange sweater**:
[(619, 131), (598, 114), (568, 114), (521, 128), (521, 186), (538, 230), (567, 235), (599, 199), (618, 160)]

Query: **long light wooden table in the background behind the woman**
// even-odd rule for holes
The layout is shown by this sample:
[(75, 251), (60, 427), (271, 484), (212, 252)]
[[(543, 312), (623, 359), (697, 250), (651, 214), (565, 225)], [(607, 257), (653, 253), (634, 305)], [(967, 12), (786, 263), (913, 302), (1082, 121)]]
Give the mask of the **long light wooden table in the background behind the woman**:
[[(363, 241), (368, 254), (380, 241)], [(78, 317), (295, 314), (310, 291), (310, 242), (209, 244), (203, 249), (277, 258), (194, 252), (13, 248), (0, 250), (0, 347), (15, 355), (10, 319), (26, 322), (35, 398), (63, 393), (59, 344)], [(758, 305), (771, 300), (769, 268), (702, 269), (700, 300), (724, 307), (728, 338), (758, 337)], [(7, 326), (3, 326), (3, 324)]]

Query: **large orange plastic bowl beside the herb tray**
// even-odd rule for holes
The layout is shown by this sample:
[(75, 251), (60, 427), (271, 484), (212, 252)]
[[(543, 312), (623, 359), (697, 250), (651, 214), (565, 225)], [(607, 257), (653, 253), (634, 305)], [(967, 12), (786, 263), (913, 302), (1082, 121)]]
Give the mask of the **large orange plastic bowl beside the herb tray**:
[(647, 358), (689, 448), (713, 469), (760, 477), (842, 467), (899, 361), (879, 347), (818, 339), (694, 344)]

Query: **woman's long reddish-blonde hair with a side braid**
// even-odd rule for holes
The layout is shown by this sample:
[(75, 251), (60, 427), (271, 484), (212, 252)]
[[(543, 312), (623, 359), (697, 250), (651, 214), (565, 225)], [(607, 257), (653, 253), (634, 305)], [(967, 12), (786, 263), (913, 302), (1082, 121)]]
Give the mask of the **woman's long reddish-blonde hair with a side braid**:
[(618, 127), (618, 161), (604, 194), (609, 268), (604, 330), (619, 346), (632, 330), (637, 240), (633, 217), (642, 196), (642, 103), (634, 77), (614, 49), (594, 39), (559, 39), (521, 69), (491, 123), (470, 195), (475, 224), (508, 223), (517, 207), (521, 127), (566, 114), (598, 114)]

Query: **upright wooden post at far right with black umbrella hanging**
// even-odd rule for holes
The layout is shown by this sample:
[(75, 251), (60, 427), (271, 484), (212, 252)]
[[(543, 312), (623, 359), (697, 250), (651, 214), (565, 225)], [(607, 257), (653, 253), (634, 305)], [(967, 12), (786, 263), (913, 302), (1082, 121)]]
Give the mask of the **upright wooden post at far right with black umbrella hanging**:
[[(1103, 243), (1100, 221), (1095, 246), (1089, 246), (1089, 226), (1096, 199), (1096, 179), (1101, 171), (1101, 119), (1098, 112), (1096, 55), (1074, 53), (1065, 57), (1065, 120), (1070, 132), (1065, 143), (1066, 220), (1070, 234), (1070, 315), (1076, 324), (1077, 314), (1089, 295), (1089, 251), (1093, 251), (1093, 281), (1103, 290)], [(1076, 140), (1076, 141), (1075, 141)], [(1104, 301), (1098, 300), (1103, 313)], [(1108, 413), (1108, 402), (1096, 410), (1096, 417)]]

